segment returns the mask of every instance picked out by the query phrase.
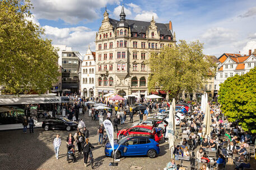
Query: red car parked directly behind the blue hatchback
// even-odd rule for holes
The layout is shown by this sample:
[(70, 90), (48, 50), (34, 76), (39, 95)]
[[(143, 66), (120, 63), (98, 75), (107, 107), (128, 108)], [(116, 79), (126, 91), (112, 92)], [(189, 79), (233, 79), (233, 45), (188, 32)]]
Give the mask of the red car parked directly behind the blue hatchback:
[(162, 131), (159, 128), (155, 128), (154, 126), (148, 125), (138, 125), (134, 126), (130, 129), (122, 129), (117, 133), (117, 138), (123, 138), (123, 136), (131, 135), (131, 134), (144, 134), (144, 135), (152, 135), (156, 142), (159, 142), (164, 137), (162, 135)]

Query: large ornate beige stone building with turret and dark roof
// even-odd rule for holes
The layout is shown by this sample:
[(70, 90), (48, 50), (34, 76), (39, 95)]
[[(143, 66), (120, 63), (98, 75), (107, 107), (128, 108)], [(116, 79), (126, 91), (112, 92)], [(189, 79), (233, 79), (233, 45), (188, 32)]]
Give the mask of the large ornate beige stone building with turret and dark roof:
[(105, 10), (96, 33), (96, 96), (113, 92), (119, 95), (145, 94), (150, 74), (148, 59), (164, 46), (175, 46), (171, 21), (167, 24), (126, 20), (124, 7), (120, 20), (109, 18)]

